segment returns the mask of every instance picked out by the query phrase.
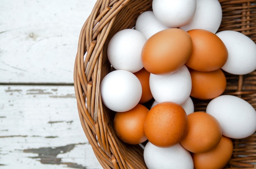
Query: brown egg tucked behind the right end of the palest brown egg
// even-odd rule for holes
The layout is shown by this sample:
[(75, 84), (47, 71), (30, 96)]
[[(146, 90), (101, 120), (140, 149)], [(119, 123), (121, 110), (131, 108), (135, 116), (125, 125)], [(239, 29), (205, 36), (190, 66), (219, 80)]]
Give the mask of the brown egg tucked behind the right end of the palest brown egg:
[(197, 71), (215, 71), (227, 61), (228, 51), (222, 40), (204, 29), (187, 31), (192, 39), (193, 49), (186, 66)]

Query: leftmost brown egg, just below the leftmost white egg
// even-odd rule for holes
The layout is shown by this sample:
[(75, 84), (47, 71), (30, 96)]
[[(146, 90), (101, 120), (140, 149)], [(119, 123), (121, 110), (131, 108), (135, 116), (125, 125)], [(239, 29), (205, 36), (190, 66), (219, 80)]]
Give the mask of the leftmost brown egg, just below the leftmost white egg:
[(144, 120), (147, 113), (148, 109), (140, 104), (129, 111), (117, 112), (113, 124), (117, 136), (132, 145), (146, 141)]

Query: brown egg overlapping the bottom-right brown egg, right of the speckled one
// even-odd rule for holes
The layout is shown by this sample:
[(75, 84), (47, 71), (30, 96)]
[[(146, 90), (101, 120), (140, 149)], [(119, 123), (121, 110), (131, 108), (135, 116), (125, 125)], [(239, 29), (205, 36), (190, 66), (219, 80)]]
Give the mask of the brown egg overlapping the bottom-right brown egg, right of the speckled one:
[(192, 153), (203, 153), (216, 147), (221, 137), (216, 118), (205, 112), (194, 112), (188, 115), (188, 131), (181, 144)]

